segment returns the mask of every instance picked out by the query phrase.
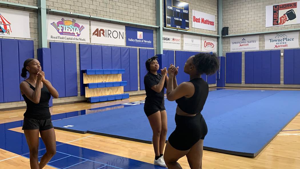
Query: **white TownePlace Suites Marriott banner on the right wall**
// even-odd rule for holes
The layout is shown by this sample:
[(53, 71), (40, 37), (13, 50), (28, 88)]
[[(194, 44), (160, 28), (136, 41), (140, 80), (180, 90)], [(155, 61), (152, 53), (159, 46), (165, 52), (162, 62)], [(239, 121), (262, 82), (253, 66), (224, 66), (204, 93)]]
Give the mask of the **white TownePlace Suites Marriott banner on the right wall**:
[(299, 47), (299, 32), (265, 35), (265, 49), (286, 49)]

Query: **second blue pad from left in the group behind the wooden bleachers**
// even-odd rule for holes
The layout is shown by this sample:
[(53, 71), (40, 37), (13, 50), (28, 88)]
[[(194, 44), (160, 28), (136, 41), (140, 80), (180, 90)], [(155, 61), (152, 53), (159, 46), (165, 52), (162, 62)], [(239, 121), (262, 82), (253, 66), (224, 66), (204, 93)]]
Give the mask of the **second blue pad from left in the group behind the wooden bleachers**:
[(92, 69), (102, 69), (102, 46), (91, 45)]

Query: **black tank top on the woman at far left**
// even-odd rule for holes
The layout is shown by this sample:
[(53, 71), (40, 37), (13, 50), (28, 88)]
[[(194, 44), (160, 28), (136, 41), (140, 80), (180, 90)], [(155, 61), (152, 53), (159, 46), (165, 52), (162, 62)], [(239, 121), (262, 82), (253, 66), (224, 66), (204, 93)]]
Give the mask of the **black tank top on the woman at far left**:
[[(35, 90), (35, 87), (33, 87), (29, 82), (27, 83), (32, 90)], [(24, 117), (31, 119), (49, 119), (51, 117), (49, 111), (49, 100), (51, 98), (51, 94), (45, 85), (41, 89), (41, 98), (38, 104), (32, 102), (29, 98), (26, 97), (25, 94), (23, 94), (22, 96), (27, 106)]]

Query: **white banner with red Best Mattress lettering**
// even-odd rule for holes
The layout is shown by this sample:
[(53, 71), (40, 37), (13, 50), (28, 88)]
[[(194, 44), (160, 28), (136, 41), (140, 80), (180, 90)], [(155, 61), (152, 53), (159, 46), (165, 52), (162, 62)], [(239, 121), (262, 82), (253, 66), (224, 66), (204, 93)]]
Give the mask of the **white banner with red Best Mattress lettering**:
[(215, 28), (215, 16), (211, 14), (206, 14), (204, 12), (192, 11), (193, 14), (193, 28), (206, 29), (211, 31), (216, 31)]

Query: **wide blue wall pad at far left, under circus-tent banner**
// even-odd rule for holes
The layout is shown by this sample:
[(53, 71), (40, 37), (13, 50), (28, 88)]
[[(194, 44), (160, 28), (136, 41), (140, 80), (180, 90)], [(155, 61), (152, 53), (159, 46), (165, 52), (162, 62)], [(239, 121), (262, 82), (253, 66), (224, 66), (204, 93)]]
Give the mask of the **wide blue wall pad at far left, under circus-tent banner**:
[(20, 101), (18, 41), (1, 39), (1, 53), (3, 100), (4, 102)]

